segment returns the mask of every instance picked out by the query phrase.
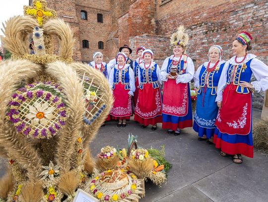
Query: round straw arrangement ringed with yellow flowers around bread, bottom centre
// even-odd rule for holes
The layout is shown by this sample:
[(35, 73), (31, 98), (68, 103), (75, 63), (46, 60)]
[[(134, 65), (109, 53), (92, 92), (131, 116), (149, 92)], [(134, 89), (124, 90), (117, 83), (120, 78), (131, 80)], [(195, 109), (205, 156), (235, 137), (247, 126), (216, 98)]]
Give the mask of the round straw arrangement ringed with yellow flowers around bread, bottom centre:
[[(111, 176), (111, 178), (107, 177)], [(113, 176), (116, 180), (113, 180)], [(121, 188), (117, 189), (117, 179), (120, 176), (122, 181), (126, 181), (124, 184), (121, 183)], [(106, 179), (111, 179), (110, 186), (106, 186)], [(109, 184), (108, 180), (108, 183)], [(139, 199), (138, 194), (141, 193), (140, 182), (134, 173), (125, 169), (121, 170), (107, 170), (98, 174), (89, 184), (91, 194), (101, 202), (118, 202), (121, 200), (128, 201)]]

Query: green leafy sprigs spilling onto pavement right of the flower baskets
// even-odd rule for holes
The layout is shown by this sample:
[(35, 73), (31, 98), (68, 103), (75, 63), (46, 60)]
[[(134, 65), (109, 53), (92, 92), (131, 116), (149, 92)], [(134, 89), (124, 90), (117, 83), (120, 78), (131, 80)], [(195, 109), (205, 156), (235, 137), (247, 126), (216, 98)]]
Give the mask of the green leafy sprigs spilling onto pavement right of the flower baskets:
[(147, 149), (147, 151), (149, 152), (150, 156), (158, 162), (159, 165), (163, 164), (165, 172), (168, 172), (172, 167), (172, 164), (165, 159), (165, 145), (161, 145), (160, 147), (160, 150), (151, 147)]

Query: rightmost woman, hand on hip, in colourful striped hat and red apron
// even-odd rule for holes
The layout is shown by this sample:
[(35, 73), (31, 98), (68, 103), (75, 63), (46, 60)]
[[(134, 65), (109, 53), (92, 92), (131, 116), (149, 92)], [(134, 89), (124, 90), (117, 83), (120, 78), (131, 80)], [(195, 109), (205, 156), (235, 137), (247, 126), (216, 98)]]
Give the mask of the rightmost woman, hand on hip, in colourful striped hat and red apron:
[[(219, 107), (213, 142), (220, 154), (234, 155), (234, 163), (242, 163), (241, 154), (253, 158), (252, 92), (268, 89), (268, 66), (249, 54), (252, 37), (242, 32), (233, 41), (234, 57), (223, 67), (216, 102)], [(252, 73), (257, 81), (250, 82)]]

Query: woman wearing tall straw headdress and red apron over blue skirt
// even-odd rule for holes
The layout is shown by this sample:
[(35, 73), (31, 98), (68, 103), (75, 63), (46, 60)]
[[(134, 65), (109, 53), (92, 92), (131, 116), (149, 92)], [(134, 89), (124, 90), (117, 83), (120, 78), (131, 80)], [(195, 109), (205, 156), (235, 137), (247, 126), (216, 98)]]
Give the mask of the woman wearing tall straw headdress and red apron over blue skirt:
[(165, 59), (160, 76), (164, 81), (162, 128), (168, 133), (180, 135), (180, 129), (193, 126), (189, 82), (195, 67), (192, 59), (185, 55), (189, 36), (184, 26), (172, 34), (170, 42), (174, 55)]

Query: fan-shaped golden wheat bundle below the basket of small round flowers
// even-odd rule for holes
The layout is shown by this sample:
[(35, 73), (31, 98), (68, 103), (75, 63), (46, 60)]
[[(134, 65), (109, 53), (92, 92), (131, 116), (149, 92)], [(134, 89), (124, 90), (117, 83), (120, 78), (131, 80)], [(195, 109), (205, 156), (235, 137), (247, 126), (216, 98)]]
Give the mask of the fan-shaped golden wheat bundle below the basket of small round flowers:
[(148, 157), (147, 159), (135, 161), (134, 159), (127, 158), (130, 171), (132, 171), (138, 179), (144, 179), (153, 169), (153, 159)]

